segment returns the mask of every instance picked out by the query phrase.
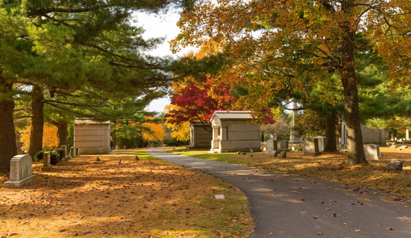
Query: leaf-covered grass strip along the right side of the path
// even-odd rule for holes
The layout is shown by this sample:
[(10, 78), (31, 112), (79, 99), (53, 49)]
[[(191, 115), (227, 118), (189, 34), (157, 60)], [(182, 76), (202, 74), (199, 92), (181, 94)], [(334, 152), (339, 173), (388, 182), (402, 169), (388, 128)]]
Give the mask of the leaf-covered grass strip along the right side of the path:
[[(381, 189), (395, 193), (405, 198), (411, 198), (411, 149), (398, 150), (389, 147), (380, 147), (384, 155), (383, 160), (368, 160), (370, 165), (343, 165), (347, 160), (347, 153), (324, 153), (319, 156), (304, 156), (303, 152), (287, 152), (287, 158), (273, 158), (263, 152), (236, 155), (235, 153), (208, 154), (206, 151), (187, 151), (183, 148), (170, 150), (178, 154), (218, 160), (239, 165), (249, 165), (283, 171), (290, 174), (338, 180), (351, 185)], [(386, 167), (391, 160), (403, 160), (402, 171), (387, 171)]]

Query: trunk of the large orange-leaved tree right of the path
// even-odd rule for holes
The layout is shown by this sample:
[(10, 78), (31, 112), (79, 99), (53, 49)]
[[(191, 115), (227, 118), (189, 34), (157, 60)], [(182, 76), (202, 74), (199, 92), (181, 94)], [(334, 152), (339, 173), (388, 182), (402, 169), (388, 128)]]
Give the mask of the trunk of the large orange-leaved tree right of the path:
[[(353, 7), (353, 0), (342, 1), (342, 10), (347, 14), (347, 18), (352, 14)], [(348, 20), (342, 27), (344, 27), (345, 36), (342, 43), (341, 81), (344, 87), (344, 111), (347, 128), (347, 164), (368, 164), (362, 145), (360, 106), (358, 104), (357, 77), (354, 67), (355, 29)]]

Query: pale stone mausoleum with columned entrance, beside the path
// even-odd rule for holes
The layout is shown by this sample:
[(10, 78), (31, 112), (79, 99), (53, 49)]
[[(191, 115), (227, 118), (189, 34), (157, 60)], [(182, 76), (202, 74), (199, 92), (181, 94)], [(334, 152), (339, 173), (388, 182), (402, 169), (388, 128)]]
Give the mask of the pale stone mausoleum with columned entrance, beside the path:
[(216, 110), (211, 117), (211, 127), (211, 153), (261, 150), (260, 124), (252, 122), (249, 111)]

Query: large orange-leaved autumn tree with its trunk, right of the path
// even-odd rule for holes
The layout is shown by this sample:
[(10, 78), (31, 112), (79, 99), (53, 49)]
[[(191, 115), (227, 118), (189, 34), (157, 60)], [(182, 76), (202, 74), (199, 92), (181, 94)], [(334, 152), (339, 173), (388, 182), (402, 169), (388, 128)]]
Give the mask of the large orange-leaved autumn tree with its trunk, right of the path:
[(373, 42), (388, 67), (387, 77), (405, 84), (411, 66), (410, 10), (408, 1), (203, 1), (182, 15), (178, 25), (183, 32), (172, 46), (178, 50), (209, 38), (224, 40), (236, 72), (257, 75), (253, 81), (242, 80), (253, 86), (250, 95), (259, 105), (279, 90), (270, 88), (274, 82), (293, 81), (302, 87), (302, 82), (315, 84), (328, 80), (329, 73), (337, 75), (344, 93), (347, 164), (366, 164), (355, 36)]

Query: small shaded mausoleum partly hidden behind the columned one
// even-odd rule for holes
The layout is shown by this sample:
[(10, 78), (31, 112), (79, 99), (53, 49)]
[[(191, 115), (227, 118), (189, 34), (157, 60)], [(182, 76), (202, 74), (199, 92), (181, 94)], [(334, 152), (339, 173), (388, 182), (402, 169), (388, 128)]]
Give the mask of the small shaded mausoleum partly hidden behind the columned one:
[(209, 149), (213, 139), (211, 126), (203, 122), (195, 122), (190, 125), (190, 148)]

